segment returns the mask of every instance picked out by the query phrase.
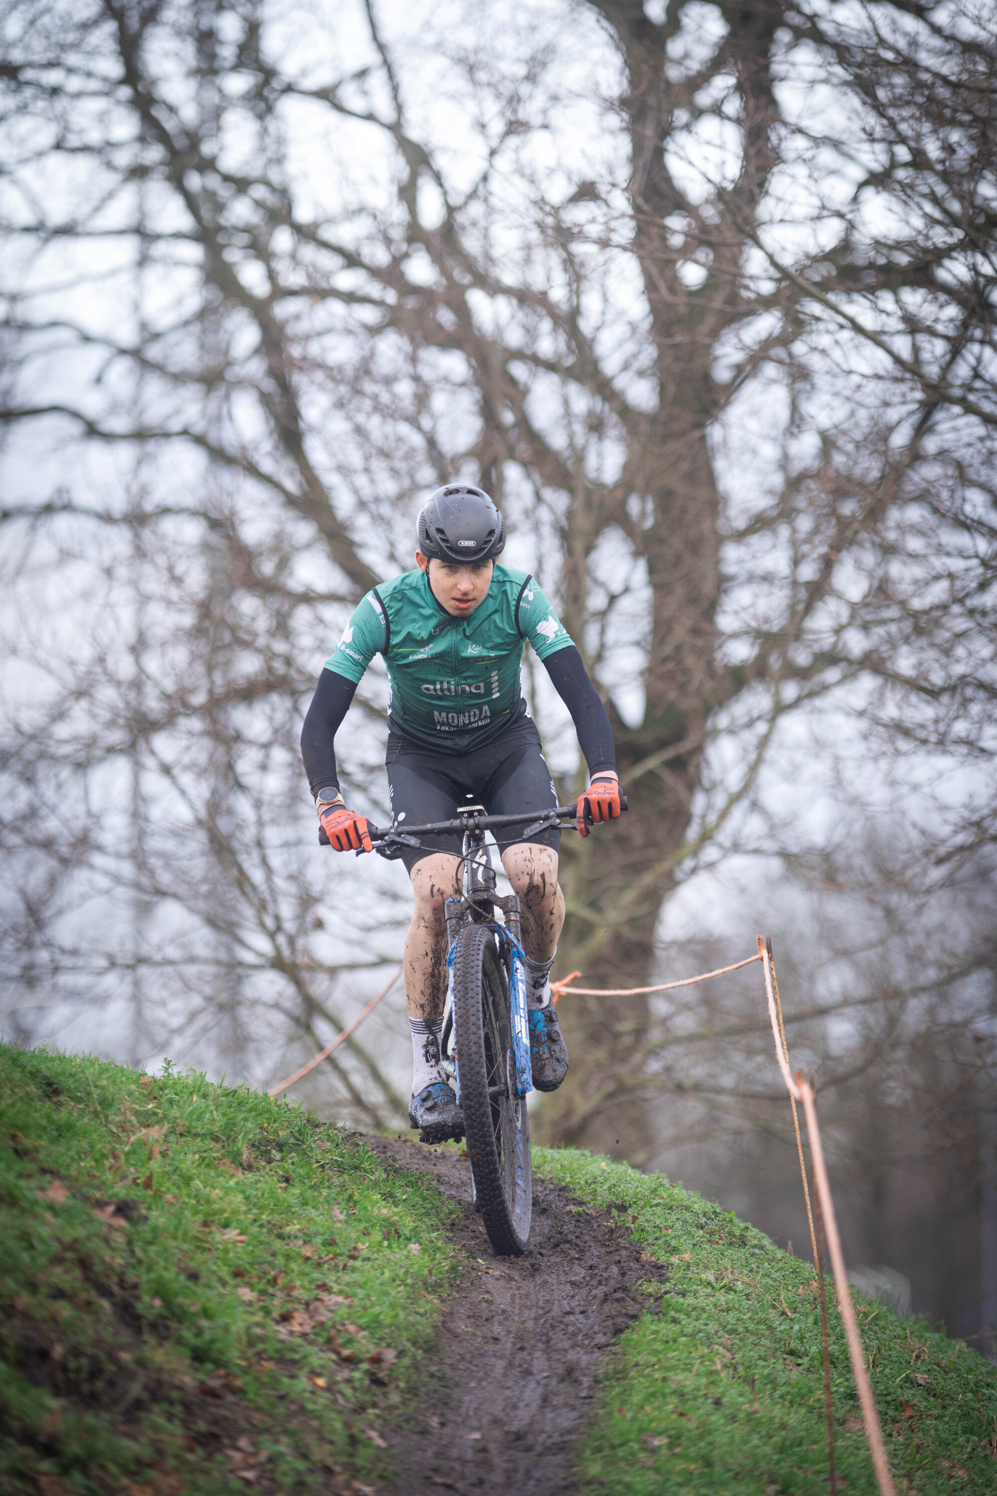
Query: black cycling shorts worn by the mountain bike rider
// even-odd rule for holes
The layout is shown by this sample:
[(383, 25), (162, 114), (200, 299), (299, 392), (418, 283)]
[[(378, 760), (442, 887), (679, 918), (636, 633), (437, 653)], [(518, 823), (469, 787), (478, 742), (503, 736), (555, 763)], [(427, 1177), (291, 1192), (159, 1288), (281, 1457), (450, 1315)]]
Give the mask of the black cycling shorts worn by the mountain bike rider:
[[(561, 830), (523, 836), (526, 826), (558, 803), (550, 769), (544, 761), (540, 733), (531, 717), (520, 717), (507, 732), (472, 748), (466, 754), (435, 754), (401, 733), (387, 738), (387, 784), (392, 796), (392, 820), (399, 830), (448, 821), (465, 805), (483, 805), (489, 815), (523, 812), (520, 826), (507, 826), (495, 839), (499, 851), (516, 842), (538, 842), (561, 847)], [(436, 851), (459, 857), (463, 850), (460, 832), (427, 836), (425, 847), (404, 847), (402, 860), (411, 872), (423, 857)]]

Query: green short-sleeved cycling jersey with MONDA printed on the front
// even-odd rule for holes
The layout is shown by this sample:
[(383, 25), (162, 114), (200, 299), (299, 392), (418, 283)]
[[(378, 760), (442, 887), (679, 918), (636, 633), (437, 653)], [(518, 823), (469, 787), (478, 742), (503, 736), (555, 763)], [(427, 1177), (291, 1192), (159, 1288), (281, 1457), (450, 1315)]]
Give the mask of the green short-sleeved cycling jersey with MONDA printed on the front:
[(468, 618), (451, 618), (425, 571), (372, 588), (326, 669), (359, 682), (375, 654), (392, 684), (390, 726), (441, 752), (469, 752), (526, 711), (519, 667), (526, 640), (541, 660), (574, 640), (528, 571), (496, 565)]

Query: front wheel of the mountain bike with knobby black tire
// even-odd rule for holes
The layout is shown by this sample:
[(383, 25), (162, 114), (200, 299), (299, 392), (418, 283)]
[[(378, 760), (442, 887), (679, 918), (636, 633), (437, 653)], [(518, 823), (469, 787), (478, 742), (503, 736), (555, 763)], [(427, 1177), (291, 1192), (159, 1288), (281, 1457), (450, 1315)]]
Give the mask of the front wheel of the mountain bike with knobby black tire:
[(519, 1257), (532, 1213), (529, 1116), (516, 1095), (508, 977), (487, 926), (469, 925), (457, 936), (453, 1020), (477, 1204), (493, 1251)]

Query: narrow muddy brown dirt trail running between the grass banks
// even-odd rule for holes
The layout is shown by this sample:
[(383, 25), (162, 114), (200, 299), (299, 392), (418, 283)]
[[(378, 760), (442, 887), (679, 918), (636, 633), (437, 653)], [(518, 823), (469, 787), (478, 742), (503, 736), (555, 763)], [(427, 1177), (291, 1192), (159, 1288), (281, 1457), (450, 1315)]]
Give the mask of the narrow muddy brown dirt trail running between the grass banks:
[(664, 1287), (665, 1270), (640, 1261), (611, 1210), (592, 1213), (543, 1180), (526, 1255), (493, 1257), (466, 1159), (405, 1138), (366, 1141), (460, 1201), (454, 1239), (471, 1267), (444, 1308), (423, 1403), (390, 1435), (399, 1496), (577, 1490), (574, 1454), (605, 1348), (659, 1306), (637, 1285)]

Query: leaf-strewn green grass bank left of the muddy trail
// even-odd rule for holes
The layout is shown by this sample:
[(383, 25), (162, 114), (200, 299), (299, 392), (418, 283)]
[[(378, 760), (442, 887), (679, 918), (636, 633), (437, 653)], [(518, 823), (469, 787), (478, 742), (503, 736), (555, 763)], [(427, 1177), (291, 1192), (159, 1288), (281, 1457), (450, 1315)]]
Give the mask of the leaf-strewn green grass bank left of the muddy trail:
[(0, 1490), (363, 1490), (453, 1209), (245, 1088), (0, 1047)]

